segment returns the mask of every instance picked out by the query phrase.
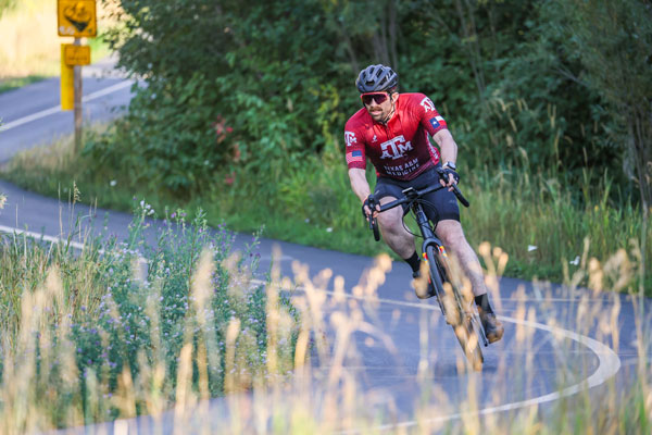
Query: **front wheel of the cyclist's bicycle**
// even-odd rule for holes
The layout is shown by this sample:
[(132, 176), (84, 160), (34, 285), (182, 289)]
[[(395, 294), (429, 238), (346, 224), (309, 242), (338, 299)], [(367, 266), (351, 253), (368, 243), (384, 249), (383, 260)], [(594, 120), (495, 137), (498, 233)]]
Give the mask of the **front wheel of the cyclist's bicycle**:
[[(471, 368), (479, 372), (482, 370), (485, 357), (480, 348), (480, 337), (473, 327), (471, 314), (463, 309), (464, 297), (457, 286), (453, 285), (452, 279), (448, 279), (450, 270), (441, 252), (437, 251), (435, 247), (428, 246), (426, 256), (432, 284), (437, 286), (438, 294), (444, 296), (443, 300), (440, 300), (440, 307), (444, 311), (443, 316), (453, 328)], [(447, 281), (442, 282), (442, 277)]]

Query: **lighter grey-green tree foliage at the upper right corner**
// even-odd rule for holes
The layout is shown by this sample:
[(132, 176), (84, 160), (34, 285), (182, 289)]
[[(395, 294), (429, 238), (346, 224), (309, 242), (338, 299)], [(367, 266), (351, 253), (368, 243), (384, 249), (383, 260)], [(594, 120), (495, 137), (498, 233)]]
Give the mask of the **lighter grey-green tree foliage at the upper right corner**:
[(625, 156), (624, 172), (637, 182), (642, 209), (652, 207), (652, 4), (637, 0), (556, 1), (568, 21), (556, 23), (568, 35), (563, 47), (577, 57), (576, 79), (601, 95), (612, 132)]

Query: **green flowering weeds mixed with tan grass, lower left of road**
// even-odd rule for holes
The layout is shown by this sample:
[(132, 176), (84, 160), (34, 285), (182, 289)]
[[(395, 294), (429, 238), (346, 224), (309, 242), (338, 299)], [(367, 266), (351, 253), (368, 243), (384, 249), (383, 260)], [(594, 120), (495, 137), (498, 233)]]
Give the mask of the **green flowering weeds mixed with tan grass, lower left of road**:
[(140, 202), (125, 240), (79, 221), (59, 244), (0, 234), (0, 433), (156, 414), (190, 389), (209, 398), (285, 377), (298, 318), (253, 281), (255, 240), (231, 252), (233, 233), (175, 210), (152, 245), (154, 216)]

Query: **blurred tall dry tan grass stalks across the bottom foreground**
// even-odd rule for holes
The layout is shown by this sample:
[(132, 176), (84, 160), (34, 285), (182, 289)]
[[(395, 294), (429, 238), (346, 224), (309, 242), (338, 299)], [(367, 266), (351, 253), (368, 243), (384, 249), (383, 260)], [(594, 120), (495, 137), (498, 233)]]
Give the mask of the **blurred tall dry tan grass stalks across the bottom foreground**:
[[(150, 209), (143, 210), (149, 213)], [(7, 261), (26, 261), (20, 254), (23, 246), (23, 241), (18, 244), (13, 260)], [(507, 253), (482, 245), (479, 251), (487, 264), (487, 285), (494, 304), (499, 312), (509, 311), (513, 319), (507, 320), (514, 327), (503, 338), (504, 352), (496, 351), (492, 374), (484, 378), (469, 370), (461, 350), (455, 348), (456, 376), (463, 388), (462, 400), (455, 399), (456, 391), (442, 389), (434, 375), (441, 363), (436, 353), (436, 343), (441, 338), (431, 336), (436, 327), (443, 328), (438, 334), (451, 337), (452, 331), (437, 310), (418, 310), (418, 337), (399, 337), (415, 338), (421, 344), (417, 370), (411, 380), (421, 384), (421, 394), (413, 397), (414, 411), (410, 415), (398, 411), (402, 403), (394, 402), (391, 394), (369, 390), (362, 382), (365, 376), (361, 371), (365, 365), (362, 347), (385, 352), (389, 356), (388, 364), (401, 359), (400, 343), (392, 340), (390, 327), (380, 318), (381, 311), (387, 311), (387, 302), (379, 298), (378, 288), (392, 265), (387, 256), (378, 257), (375, 265), (350, 289), (333, 271), (324, 270), (311, 277), (308, 266), (299, 262), (292, 264), (293, 277), (283, 276), (279, 262), (275, 261), (265, 286), (265, 303), (259, 304), (263, 313), (260, 321), (267, 331), (263, 343), (252, 340), (251, 327), (255, 322), (242, 315), (227, 318), (222, 343), (212, 333), (215, 313), (210, 301), (220, 283), (226, 284), (228, 310), (238, 313), (251, 297), (252, 288), (260, 284), (247, 268), (237, 268), (237, 257), (215, 263), (210, 252), (204, 250), (199, 254), (195, 250), (198, 254), (192, 264), (187, 261), (181, 264), (192, 270), (188, 298), (176, 290), (165, 291), (161, 279), (172, 262), (165, 256), (159, 257), (158, 264), (148, 271), (146, 282), (151, 285), (130, 287), (133, 296), (122, 300), (123, 304), (134, 302), (142, 294), (138, 288), (146, 290), (141, 308), (149, 326), (135, 331), (136, 337), (131, 339), (147, 339), (149, 345), (130, 360), (134, 365), (124, 364), (113, 378), (109, 375), (110, 365), (102, 363), (89, 370), (83, 368), (77, 357), (79, 345), (72, 338), (75, 326), (70, 320), (75, 316), (74, 304), (62, 284), (70, 273), (62, 273), (63, 269), (55, 265), (41, 268), (41, 278), (28, 278), (28, 283), (36, 285), (23, 289), (16, 299), (20, 314), (12, 323), (15, 331), (11, 335), (3, 332), (3, 337), (14, 338), (11, 341), (4, 338), (2, 344), (1, 430), (13, 434), (117, 419), (113, 433), (647, 434), (652, 414), (652, 373), (647, 360), (651, 349), (645, 339), (650, 332), (648, 314), (637, 309), (636, 332), (634, 335), (626, 332), (627, 339), (636, 340), (638, 360), (632, 369), (636, 377), (619, 378), (624, 384), (609, 378), (598, 386), (599, 395), (591, 394), (594, 390), (581, 382), (592, 371), (594, 356), (586, 351), (581, 337), (568, 338), (574, 333), (582, 334), (610, 349), (619, 349), (625, 335), (620, 331), (620, 297), (616, 293), (603, 294), (602, 289), (613, 283), (632, 282), (626, 275), (637, 270), (636, 263), (640, 261), (637, 249), (635, 246), (630, 251), (619, 251), (604, 264), (585, 256), (580, 268), (568, 275), (561, 294), (538, 287), (542, 298), (535, 309), (534, 295), (524, 287), (507, 295), (507, 300), (501, 299), (500, 275), (509, 261)], [(276, 251), (274, 257), (280, 258), (280, 252)], [(80, 261), (88, 263), (90, 259), (82, 257)], [(3, 264), (3, 269), (10, 265)], [(228, 277), (216, 281), (215, 268), (230, 271)], [(586, 279), (593, 286), (592, 293), (578, 288), (578, 283)], [(118, 290), (113, 293), (120, 300)], [(178, 346), (170, 347), (165, 345), (170, 337), (160, 327), (170, 318), (167, 310), (161, 308), (176, 307), (175, 294), (186, 306), (175, 311), (179, 322), (168, 331), (174, 331)], [(292, 296), (298, 318), (278, 303), (287, 294)], [(568, 303), (555, 303), (555, 298), (567, 298)], [(640, 307), (641, 302), (644, 300), (639, 295), (635, 303)], [(105, 304), (112, 323), (124, 324), (118, 306), (110, 301)], [(392, 321), (404, 321), (406, 315), (394, 309)], [(537, 335), (542, 330), (530, 326), (535, 322), (549, 330), (543, 340)], [(128, 341), (128, 333), (122, 331), (113, 337), (101, 333), (98, 343), (90, 344), (85, 351), (93, 346), (106, 348), (116, 340)], [(488, 407), (524, 401), (529, 391), (537, 390), (540, 376), (537, 352), (546, 344), (554, 351), (554, 362), (547, 370), (556, 373), (559, 397), (547, 407), (523, 403), (510, 410), (487, 412)], [(263, 364), (252, 364), (256, 355), (264, 355)], [(52, 365), (54, 361), (58, 364)], [(173, 374), (171, 361), (177, 362)], [(216, 377), (214, 370), (221, 364), (226, 396), (216, 405), (208, 399), (215, 395), (211, 380)], [(482, 399), (487, 382), (492, 388), (489, 403), (487, 395)], [(573, 386), (576, 391), (566, 389)], [(514, 398), (519, 389), (523, 397)], [(137, 414), (151, 418), (137, 423), (133, 420)], [(105, 432), (108, 426), (95, 426), (91, 431), (110, 433)]]

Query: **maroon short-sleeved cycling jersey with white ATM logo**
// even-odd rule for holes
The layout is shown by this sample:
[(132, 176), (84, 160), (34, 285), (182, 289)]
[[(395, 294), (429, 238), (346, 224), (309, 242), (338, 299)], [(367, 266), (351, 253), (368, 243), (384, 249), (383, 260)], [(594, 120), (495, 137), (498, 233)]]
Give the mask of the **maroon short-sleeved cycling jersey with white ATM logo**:
[(374, 122), (365, 108), (344, 127), (349, 169), (366, 167), (368, 157), (378, 176), (412, 179), (439, 162), (439, 151), (428, 140), (447, 128), (435, 104), (423, 94), (400, 94), (396, 113), (387, 125)]

